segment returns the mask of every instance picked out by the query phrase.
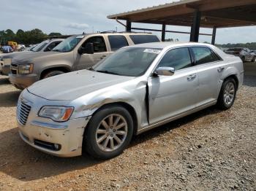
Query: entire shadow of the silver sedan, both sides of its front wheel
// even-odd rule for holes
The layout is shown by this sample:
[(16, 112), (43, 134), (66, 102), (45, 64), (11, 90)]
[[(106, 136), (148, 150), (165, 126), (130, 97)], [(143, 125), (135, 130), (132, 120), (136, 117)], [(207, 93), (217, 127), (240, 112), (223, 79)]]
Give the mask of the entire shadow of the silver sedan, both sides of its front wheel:
[[(135, 147), (143, 141), (153, 139), (207, 114), (216, 114), (219, 112), (221, 111), (211, 107), (191, 114), (188, 117), (181, 118), (181, 120), (176, 120), (154, 130), (149, 130), (146, 133), (135, 136), (129, 147)], [(103, 160), (94, 160), (88, 155), (61, 158), (39, 152), (20, 139), (16, 128), (0, 133), (0, 171), (24, 182), (49, 178), (50, 176), (64, 174), (69, 171), (86, 169), (104, 162)]]

